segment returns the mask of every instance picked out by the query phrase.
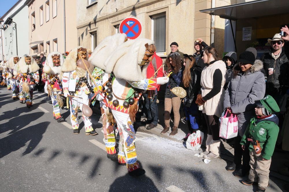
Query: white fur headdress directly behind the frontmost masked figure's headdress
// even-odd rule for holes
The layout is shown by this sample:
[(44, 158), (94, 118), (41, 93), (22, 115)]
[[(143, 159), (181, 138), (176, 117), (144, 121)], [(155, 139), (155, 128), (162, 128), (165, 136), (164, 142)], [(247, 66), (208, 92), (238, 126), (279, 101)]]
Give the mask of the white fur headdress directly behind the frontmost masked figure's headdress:
[(123, 44), (127, 38), (124, 33), (117, 33), (112, 36), (105, 37), (97, 47), (93, 50), (88, 61), (95, 67), (105, 70), (104, 62), (114, 51), (114, 49)]

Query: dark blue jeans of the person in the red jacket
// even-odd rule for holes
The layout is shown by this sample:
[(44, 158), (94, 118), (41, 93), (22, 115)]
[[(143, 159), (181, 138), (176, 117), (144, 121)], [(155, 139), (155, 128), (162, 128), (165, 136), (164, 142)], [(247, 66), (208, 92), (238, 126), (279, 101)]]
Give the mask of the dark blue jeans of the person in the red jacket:
[(158, 105), (157, 105), (157, 95), (153, 98), (148, 98), (148, 94), (144, 93), (144, 104), (147, 109), (147, 121), (151, 121), (152, 124), (157, 125), (159, 121), (158, 117)]

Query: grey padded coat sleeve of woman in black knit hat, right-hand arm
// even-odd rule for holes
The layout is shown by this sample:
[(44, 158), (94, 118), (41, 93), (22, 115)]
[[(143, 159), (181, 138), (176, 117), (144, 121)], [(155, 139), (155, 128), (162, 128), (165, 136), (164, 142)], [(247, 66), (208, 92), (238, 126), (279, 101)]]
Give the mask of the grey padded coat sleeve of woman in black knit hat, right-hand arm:
[(239, 114), (255, 108), (255, 101), (260, 100), (264, 97), (266, 90), (265, 78), (263, 73), (260, 73), (251, 89), (250, 94), (246, 99), (240, 101), (236, 105), (231, 106), (232, 112)]

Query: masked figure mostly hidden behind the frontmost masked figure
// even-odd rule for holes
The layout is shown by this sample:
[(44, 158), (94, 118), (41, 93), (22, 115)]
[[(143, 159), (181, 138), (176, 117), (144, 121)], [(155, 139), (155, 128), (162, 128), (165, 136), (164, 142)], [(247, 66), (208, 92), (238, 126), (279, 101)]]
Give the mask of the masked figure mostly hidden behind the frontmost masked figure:
[[(108, 36), (104, 38), (101, 43), (94, 49), (93, 53), (91, 54), (88, 61), (95, 66), (92, 77), (95, 79), (95, 82), (98, 86), (98, 89), (95, 87), (93, 82), (91, 84), (94, 87), (94, 92), (97, 93), (98, 90), (107, 91), (105, 86), (108, 83), (108, 79), (110, 78), (110, 74), (105, 73), (105, 60), (110, 56), (110, 54), (116, 49), (118, 45), (123, 44), (127, 41), (126, 34), (115, 34), (113, 36)], [(109, 90), (110, 92), (110, 90)], [(105, 148), (107, 152), (107, 157), (110, 158), (112, 161), (118, 161), (118, 155), (116, 152), (116, 126), (115, 122), (109, 122), (107, 119), (107, 104), (105, 103), (104, 94), (103, 92), (96, 95), (96, 99), (101, 101), (101, 117), (103, 123), (103, 134), (105, 140)], [(94, 102), (92, 102), (94, 104)], [(116, 132), (114, 131), (116, 130)], [(125, 165), (125, 160), (122, 158), (118, 162), (121, 165)]]

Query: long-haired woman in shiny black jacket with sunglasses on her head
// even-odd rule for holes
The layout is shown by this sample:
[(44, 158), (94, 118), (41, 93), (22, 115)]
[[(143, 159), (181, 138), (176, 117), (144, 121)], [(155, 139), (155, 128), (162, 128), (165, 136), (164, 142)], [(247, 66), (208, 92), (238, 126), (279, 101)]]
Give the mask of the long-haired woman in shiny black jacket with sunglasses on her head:
[(182, 139), (187, 141), (188, 136), (199, 130), (197, 122), (198, 106), (195, 104), (197, 95), (201, 89), (202, 68), (197, 66), (194, 56), (184, 54), (185, 69), (183, 72), (183, 81), (181, 86), (186, 90), (187, 95), (184, 98), (184, 112), (187, 119), (189, 133)]

